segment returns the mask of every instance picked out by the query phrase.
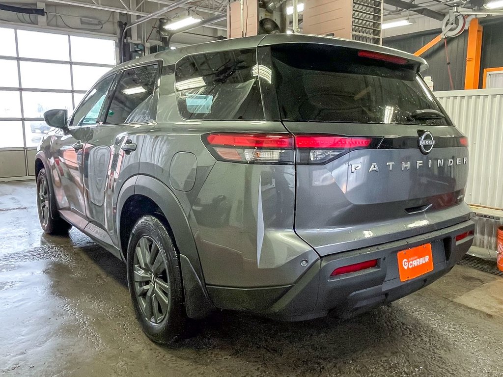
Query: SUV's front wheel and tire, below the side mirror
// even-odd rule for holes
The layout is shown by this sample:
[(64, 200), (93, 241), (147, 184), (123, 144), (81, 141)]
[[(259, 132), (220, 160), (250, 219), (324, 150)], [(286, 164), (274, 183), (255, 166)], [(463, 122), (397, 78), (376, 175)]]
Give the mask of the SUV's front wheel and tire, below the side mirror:
[(40, 170), (37, 175), (37, 210), (40, 226), (45, 233), (59, 235), (68, 233), (71, 225), (63, 220), (56, 210), (52, 187), (45, 169)]

